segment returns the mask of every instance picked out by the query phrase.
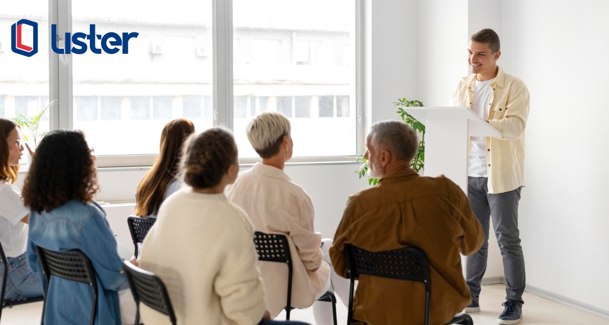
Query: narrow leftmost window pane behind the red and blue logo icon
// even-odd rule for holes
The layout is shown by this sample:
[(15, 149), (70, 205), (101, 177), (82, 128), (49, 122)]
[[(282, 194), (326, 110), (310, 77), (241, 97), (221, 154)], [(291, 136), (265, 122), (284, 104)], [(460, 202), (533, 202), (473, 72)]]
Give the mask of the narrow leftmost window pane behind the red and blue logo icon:
[[(0, 117), (32, 118), (49, 104), (48, 1), (3, 1), (0, 10)], [(18, 20), (38, 23), (38, 53), (25, 57), (11, 51), (11, 26)], [(21, 43), (33, 48), (33, 27), (21, 25)], [(38, 134), (49, 130), (49, 113)], [(33, 148), (30, 130), (22, 133)]]

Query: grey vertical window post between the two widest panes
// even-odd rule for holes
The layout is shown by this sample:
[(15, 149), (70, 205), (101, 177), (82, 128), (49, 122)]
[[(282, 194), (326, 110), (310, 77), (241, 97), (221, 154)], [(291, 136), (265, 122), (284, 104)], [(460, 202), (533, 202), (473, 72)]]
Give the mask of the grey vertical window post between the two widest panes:
[(233, 1), (212, 3), (214, 126), (233, 130)]

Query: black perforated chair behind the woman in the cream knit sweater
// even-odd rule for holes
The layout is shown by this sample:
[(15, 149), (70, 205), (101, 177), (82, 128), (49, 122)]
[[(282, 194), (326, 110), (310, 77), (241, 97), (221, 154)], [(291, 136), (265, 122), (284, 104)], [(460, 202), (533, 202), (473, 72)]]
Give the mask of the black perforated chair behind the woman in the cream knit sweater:
[(137, 306), (135, 324), (139, 324), (139, 302), (141, 301), (148, 307), (169, 316), (171, 323), (175, 325), (177, 321), (175, 320), (174, 308), (171, 305), (163, 281), (156, 274), (138, 268), (138, 266), (128, 261), (123, 262), (122, 268), (127, 274), (129, 287)]

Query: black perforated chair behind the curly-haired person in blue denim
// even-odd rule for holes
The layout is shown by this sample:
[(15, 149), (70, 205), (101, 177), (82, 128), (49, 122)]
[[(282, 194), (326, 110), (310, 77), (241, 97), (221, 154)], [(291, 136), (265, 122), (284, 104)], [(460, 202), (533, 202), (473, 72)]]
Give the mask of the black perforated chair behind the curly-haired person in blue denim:
[(82, 282), (88, 284), (93, 290), (93, 307), (91, 307), (91, 325), (95, 323), (95, 312), (97, 307), (97, 281), (95, 279), (95, 271), (91, 265), (91, 261), (86, 257), (85, 253), (79, 249), (71, 251), (49, 251), (48, 249), (36, 246), (38, 253), (38, 262), (44, 274), (44, 304), (42, 307), (42, 320), (40, 324), (44, 324), (44, 310), (46, 309), (46, 297), (49, 291), (49, 283), (51, 276), (61, 277), (66, 280)]

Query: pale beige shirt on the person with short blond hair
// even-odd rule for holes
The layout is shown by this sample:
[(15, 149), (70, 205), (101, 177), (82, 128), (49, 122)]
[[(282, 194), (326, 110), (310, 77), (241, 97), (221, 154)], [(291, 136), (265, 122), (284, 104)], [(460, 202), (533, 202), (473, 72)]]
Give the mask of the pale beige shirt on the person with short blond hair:
[[(228, 199), (247, 212), (256, 230), (287, 235), (294, 265), (292, 307), (311, 306), (329, 276), (328, 264), (322, 263), (322, 237), (314, 232), (311, 197), (284, 171), (262, 163), (240, 173), (227, 192)], [(286, 306), (287, 265), (258, 262), (258, 267), (267, 309), (274, 317)]]

